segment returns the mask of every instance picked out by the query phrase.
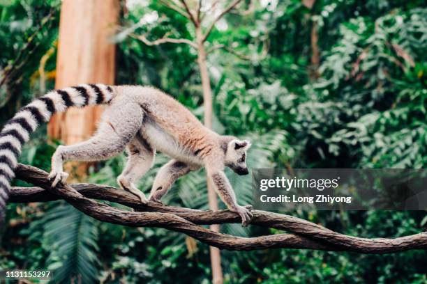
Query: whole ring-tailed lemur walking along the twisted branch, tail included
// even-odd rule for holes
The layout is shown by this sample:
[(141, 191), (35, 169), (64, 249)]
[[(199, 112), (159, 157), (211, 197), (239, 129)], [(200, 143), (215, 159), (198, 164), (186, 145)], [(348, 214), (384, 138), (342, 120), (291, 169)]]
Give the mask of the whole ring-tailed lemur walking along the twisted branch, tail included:
[(151, 168), (155, 152), (159, 150), (172, 159), (160, 168), (150, 200), (160, 202), (177, 178), (204, 166), (227, 207), (241, 216), (243, 225), (250, 221), (250, 210), (237, 204), (223, 172), (228, 166), (239, 175), (248, 174), (249, 141), (216, 134), (177, 100), (156, 88), (103, 84), (52, 90), (20, 109), (6, 123), (0, 132), (0, 221), (4, 218), (13, 170), (30, 134), (56, 112), (93, 104), (108, 104), (98, 131), (88, 141), (57, 148), (49, 175), (53, 187), (68, 178), (68, 173), (63, 172), (64, 161), (98, 161), (127, 148), (128, 161), (117, 182), (146, 203), (147, 198), (134, 182)]

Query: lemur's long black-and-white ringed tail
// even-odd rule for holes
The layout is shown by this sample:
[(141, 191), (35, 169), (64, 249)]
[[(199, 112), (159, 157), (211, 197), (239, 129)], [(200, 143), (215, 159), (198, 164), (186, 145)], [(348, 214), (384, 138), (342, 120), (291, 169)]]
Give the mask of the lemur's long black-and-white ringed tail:
[(18, 111), (0, 132), (0, 228), (6, 215), (6, 202), (10, 180), (15, 177), (15, 167), (22, 145), (43, 122), (48, 122), (54, 113), (69, 107), (85, 107), (107, 104), (112, 100), (113, 88), (103, 84), (82, 84), (75, 87), (52, 90), (47, 95), (33, 100)]

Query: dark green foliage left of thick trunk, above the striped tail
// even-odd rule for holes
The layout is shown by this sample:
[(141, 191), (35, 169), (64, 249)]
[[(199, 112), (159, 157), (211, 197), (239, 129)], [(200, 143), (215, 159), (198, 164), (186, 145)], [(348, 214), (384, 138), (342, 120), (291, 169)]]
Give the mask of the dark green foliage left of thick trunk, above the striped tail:
[[(35, 75), (40, 59), (57, 39), (59, 6), (59, 0), (0, 2), (1, 121), (38, 93)], [(54, 58), (50, 57), (45, 70), (54, 69)]]

